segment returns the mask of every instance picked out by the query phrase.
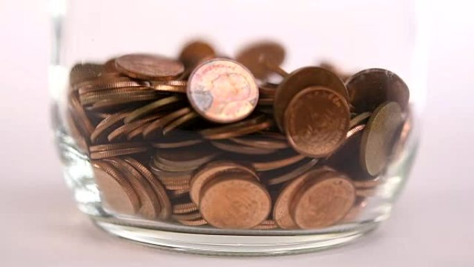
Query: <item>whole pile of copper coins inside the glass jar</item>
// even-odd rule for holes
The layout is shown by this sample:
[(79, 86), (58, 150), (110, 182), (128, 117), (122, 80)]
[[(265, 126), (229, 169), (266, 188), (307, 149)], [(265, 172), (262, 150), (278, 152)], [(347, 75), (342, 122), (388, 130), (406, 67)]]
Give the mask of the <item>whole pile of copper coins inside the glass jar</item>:
[(191, 42), (177, 60), (128, 54), (71, 69), (67, 126), (104, 209), (224, 229), (356, 220), (410, 134), (403, 80), (328, 64), (287, 73), (274, 42), (216, 54)]

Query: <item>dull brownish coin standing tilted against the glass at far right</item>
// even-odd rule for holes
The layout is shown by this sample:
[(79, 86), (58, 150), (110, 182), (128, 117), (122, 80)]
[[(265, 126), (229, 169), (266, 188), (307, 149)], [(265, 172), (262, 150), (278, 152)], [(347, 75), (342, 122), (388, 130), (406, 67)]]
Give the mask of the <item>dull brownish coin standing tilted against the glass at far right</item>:
[(383, 103), (374, 110), (360, 143), (360, 164), (370, 175), (380, 174), (387, 166), (401, 123), (401, 108), (396, 102)]

